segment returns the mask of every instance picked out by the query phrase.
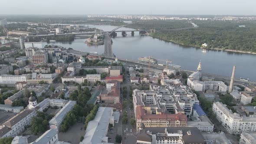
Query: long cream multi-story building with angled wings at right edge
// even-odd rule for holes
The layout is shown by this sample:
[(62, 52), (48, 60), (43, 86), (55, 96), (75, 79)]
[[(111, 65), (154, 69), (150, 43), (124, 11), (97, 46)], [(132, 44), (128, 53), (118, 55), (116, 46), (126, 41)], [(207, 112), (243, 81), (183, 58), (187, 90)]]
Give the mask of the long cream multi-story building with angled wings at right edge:
[(256, 131), (256, 117), (241, 117), (230, 111), (221, 102), (213, 103), (213, 113), (229, 133), (240, 134)]

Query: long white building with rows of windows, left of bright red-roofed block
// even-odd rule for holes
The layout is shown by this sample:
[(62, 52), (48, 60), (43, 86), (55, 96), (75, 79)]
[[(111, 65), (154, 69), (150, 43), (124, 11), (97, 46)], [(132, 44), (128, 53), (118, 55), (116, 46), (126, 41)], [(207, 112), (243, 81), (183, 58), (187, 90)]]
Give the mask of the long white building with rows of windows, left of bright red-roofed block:
[(101, 81), (100, 75), (86, 75), (86, 76), (63, 76), (62, 83), (66, 82), (77, 82), (81, 84), (84, 80), (87, 79), (88, 82), (95, 83), (96, 81)]

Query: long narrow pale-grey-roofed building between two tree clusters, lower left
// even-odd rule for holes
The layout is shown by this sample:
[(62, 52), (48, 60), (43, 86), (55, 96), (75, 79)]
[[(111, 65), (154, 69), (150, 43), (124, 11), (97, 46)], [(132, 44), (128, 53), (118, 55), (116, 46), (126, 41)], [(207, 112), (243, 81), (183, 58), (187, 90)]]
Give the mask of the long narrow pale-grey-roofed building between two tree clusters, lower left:
[(64, 120), (66, 114), (71, 111), (76, 104), (76, 101), (69, 101), (50, 121), (49, 125), (55, 125), (56, 129), (60, 128), (62, 121)]

